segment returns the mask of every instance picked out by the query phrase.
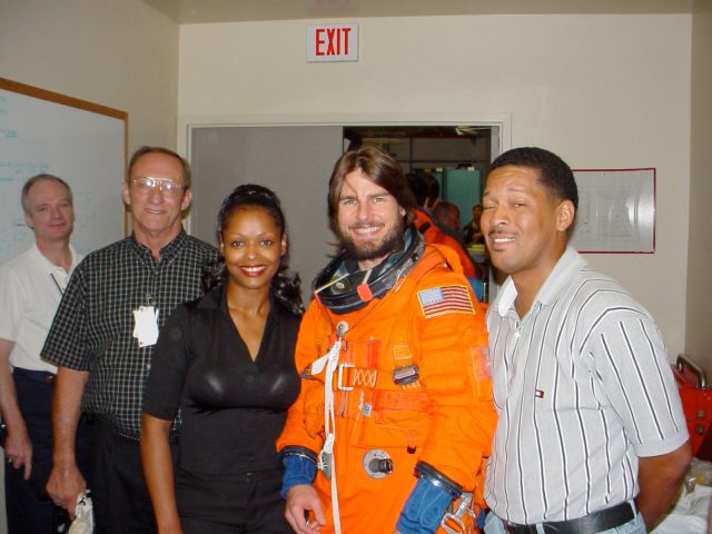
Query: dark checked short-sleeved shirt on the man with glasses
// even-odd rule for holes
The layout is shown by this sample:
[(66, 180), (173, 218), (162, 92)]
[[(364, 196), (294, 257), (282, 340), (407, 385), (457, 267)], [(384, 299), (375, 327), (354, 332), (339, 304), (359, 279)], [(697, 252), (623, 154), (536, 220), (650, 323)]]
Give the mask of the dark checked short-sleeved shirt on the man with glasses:
[(138, 439), (154, 346), (139, 347), (134, 310), (154, 306), (160, 328), (177, 305), (202, 294), (202, 267), (215, 259), (214, 247), (181, 231), (160, 250), (160, 261), (130, 236), (88, 255), (77, 267), (41, 355), (58, 366), (89, 372), (85, 412)]

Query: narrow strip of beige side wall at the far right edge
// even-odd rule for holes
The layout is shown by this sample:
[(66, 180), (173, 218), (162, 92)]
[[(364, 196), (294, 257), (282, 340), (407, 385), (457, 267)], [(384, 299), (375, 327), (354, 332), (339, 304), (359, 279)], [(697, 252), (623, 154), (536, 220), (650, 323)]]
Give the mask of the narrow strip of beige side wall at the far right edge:
[(712, 374), (712, 3), (698, 2), (692, 22), (692, 150), (685, 350)]

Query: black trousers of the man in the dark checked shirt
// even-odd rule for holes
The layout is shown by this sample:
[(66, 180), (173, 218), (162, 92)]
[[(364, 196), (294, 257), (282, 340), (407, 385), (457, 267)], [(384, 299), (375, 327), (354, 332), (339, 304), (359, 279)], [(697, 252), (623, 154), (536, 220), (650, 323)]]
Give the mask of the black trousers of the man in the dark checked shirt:
[(99, 422), (89, 426), (87, 486), (91, 491), (95, 534), (156, 533), (138, 442), (119, 436)]

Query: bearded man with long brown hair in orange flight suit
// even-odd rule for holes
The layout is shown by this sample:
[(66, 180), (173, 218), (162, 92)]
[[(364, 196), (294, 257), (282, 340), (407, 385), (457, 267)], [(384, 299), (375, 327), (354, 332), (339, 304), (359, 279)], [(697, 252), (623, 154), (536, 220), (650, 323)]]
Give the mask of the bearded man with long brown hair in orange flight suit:
[(484, 314), (457, 256), (412, 227), (390, 156), (342, 156), (328, 204), (340, 251), (315, 280), (277, 443), (286, 517), (303, 534), (432, 533), (465, 492), (478, 501), (496, 418)]

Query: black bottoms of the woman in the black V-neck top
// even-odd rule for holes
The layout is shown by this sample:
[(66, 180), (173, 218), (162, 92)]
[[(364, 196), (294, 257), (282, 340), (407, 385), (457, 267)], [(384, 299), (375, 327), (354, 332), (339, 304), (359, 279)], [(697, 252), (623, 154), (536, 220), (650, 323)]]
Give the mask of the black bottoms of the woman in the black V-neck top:
[(184, 534), (290, 534), (279, 495), (281, 469), (202, 475), (178, 469), (176, 501)]

